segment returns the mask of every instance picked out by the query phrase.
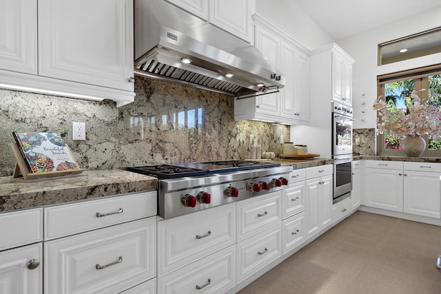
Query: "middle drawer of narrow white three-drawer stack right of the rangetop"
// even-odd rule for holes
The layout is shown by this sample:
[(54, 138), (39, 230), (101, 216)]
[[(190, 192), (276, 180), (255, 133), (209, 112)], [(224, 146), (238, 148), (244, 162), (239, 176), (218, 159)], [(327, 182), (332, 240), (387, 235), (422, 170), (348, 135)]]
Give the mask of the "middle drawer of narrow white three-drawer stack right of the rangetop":
[(305, 211), (305, 181), (296, 182), (283, 190), (283, 219)]

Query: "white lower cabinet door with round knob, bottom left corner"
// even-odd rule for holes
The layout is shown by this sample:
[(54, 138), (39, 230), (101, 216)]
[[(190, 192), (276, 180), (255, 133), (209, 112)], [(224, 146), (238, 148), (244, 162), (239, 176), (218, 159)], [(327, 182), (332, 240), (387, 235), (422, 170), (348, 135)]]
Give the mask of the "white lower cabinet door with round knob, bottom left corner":
[[(0, 252), (0, 293), (43, 293), (42, 248), (38, 243)], [(37, 262), (39, 265), (32, 269)]]

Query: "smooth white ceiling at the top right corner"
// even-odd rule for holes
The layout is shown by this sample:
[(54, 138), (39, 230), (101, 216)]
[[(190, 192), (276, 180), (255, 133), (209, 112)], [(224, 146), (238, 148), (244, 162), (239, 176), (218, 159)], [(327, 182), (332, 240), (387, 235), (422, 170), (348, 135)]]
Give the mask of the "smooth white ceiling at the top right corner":
[(441, 6), (441, 0), (294, 0), (336, 40)]

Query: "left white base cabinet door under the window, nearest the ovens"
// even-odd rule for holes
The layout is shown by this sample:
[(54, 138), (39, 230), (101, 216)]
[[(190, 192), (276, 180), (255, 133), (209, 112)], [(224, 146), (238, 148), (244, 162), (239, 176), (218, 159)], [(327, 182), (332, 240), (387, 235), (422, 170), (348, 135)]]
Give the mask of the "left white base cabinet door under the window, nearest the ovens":
[(403, 177), (400, 169), (365, 169), (365, 205), (392, 211), (403, 210)]

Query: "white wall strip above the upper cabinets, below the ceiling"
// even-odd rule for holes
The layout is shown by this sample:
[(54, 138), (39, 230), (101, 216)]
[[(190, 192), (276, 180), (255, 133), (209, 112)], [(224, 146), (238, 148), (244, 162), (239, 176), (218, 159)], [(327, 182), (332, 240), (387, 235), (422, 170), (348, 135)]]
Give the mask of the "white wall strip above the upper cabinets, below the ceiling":
[(309, 50), (334, 42), (294, 1), (256, 0), (256, 12)]

